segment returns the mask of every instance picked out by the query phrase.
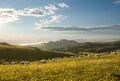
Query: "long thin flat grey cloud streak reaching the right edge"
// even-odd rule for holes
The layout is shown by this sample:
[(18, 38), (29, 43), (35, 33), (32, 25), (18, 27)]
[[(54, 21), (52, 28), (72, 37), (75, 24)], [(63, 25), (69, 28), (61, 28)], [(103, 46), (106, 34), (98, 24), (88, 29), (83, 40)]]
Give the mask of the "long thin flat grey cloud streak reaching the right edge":
[(120, 30), (120, 25), (108, 25), (108, 26), (95, 26), (95, 27), (79, 27), (79, 26), (67, 26), (67, 27), (42, 27), (42, 30), (48, 31), (97, 31), (97, 30)]

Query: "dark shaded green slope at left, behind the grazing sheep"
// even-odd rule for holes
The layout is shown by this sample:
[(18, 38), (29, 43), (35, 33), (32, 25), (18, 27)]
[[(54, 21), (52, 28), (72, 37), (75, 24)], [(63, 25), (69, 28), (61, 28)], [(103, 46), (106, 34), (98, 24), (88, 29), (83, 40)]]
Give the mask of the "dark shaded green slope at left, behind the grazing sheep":
[(48, 59), (53, 57), (69, 56), (67, 54), (41, 51), (37, 48), (22, 47), (22, 46), (0, 46), (0, 60), (28, 60), (35, 61), (40, 59)]

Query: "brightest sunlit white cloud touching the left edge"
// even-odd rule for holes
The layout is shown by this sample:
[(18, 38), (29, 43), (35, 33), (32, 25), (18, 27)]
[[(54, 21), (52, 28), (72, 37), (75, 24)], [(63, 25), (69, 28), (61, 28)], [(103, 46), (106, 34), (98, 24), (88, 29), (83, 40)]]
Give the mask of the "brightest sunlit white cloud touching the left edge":
[(18, 20), (18, 15), (15, 9), (0, 8), (0, 23), (10, 23), (16, 20)]

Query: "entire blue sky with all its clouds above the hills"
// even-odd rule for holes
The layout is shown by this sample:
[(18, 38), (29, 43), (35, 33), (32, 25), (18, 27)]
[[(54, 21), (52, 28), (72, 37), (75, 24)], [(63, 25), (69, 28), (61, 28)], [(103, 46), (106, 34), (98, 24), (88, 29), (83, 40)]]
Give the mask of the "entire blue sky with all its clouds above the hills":
[(120, 0), (0, 0), (0, 42), (120, 39)]

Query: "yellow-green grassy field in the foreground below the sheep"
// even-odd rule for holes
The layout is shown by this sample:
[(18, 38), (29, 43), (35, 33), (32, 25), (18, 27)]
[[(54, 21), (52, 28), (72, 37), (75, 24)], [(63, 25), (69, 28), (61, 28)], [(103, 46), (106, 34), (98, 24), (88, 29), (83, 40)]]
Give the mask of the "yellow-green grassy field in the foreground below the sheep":
[(119, 81), (120, 54), (0, 65), (0, 81)]

